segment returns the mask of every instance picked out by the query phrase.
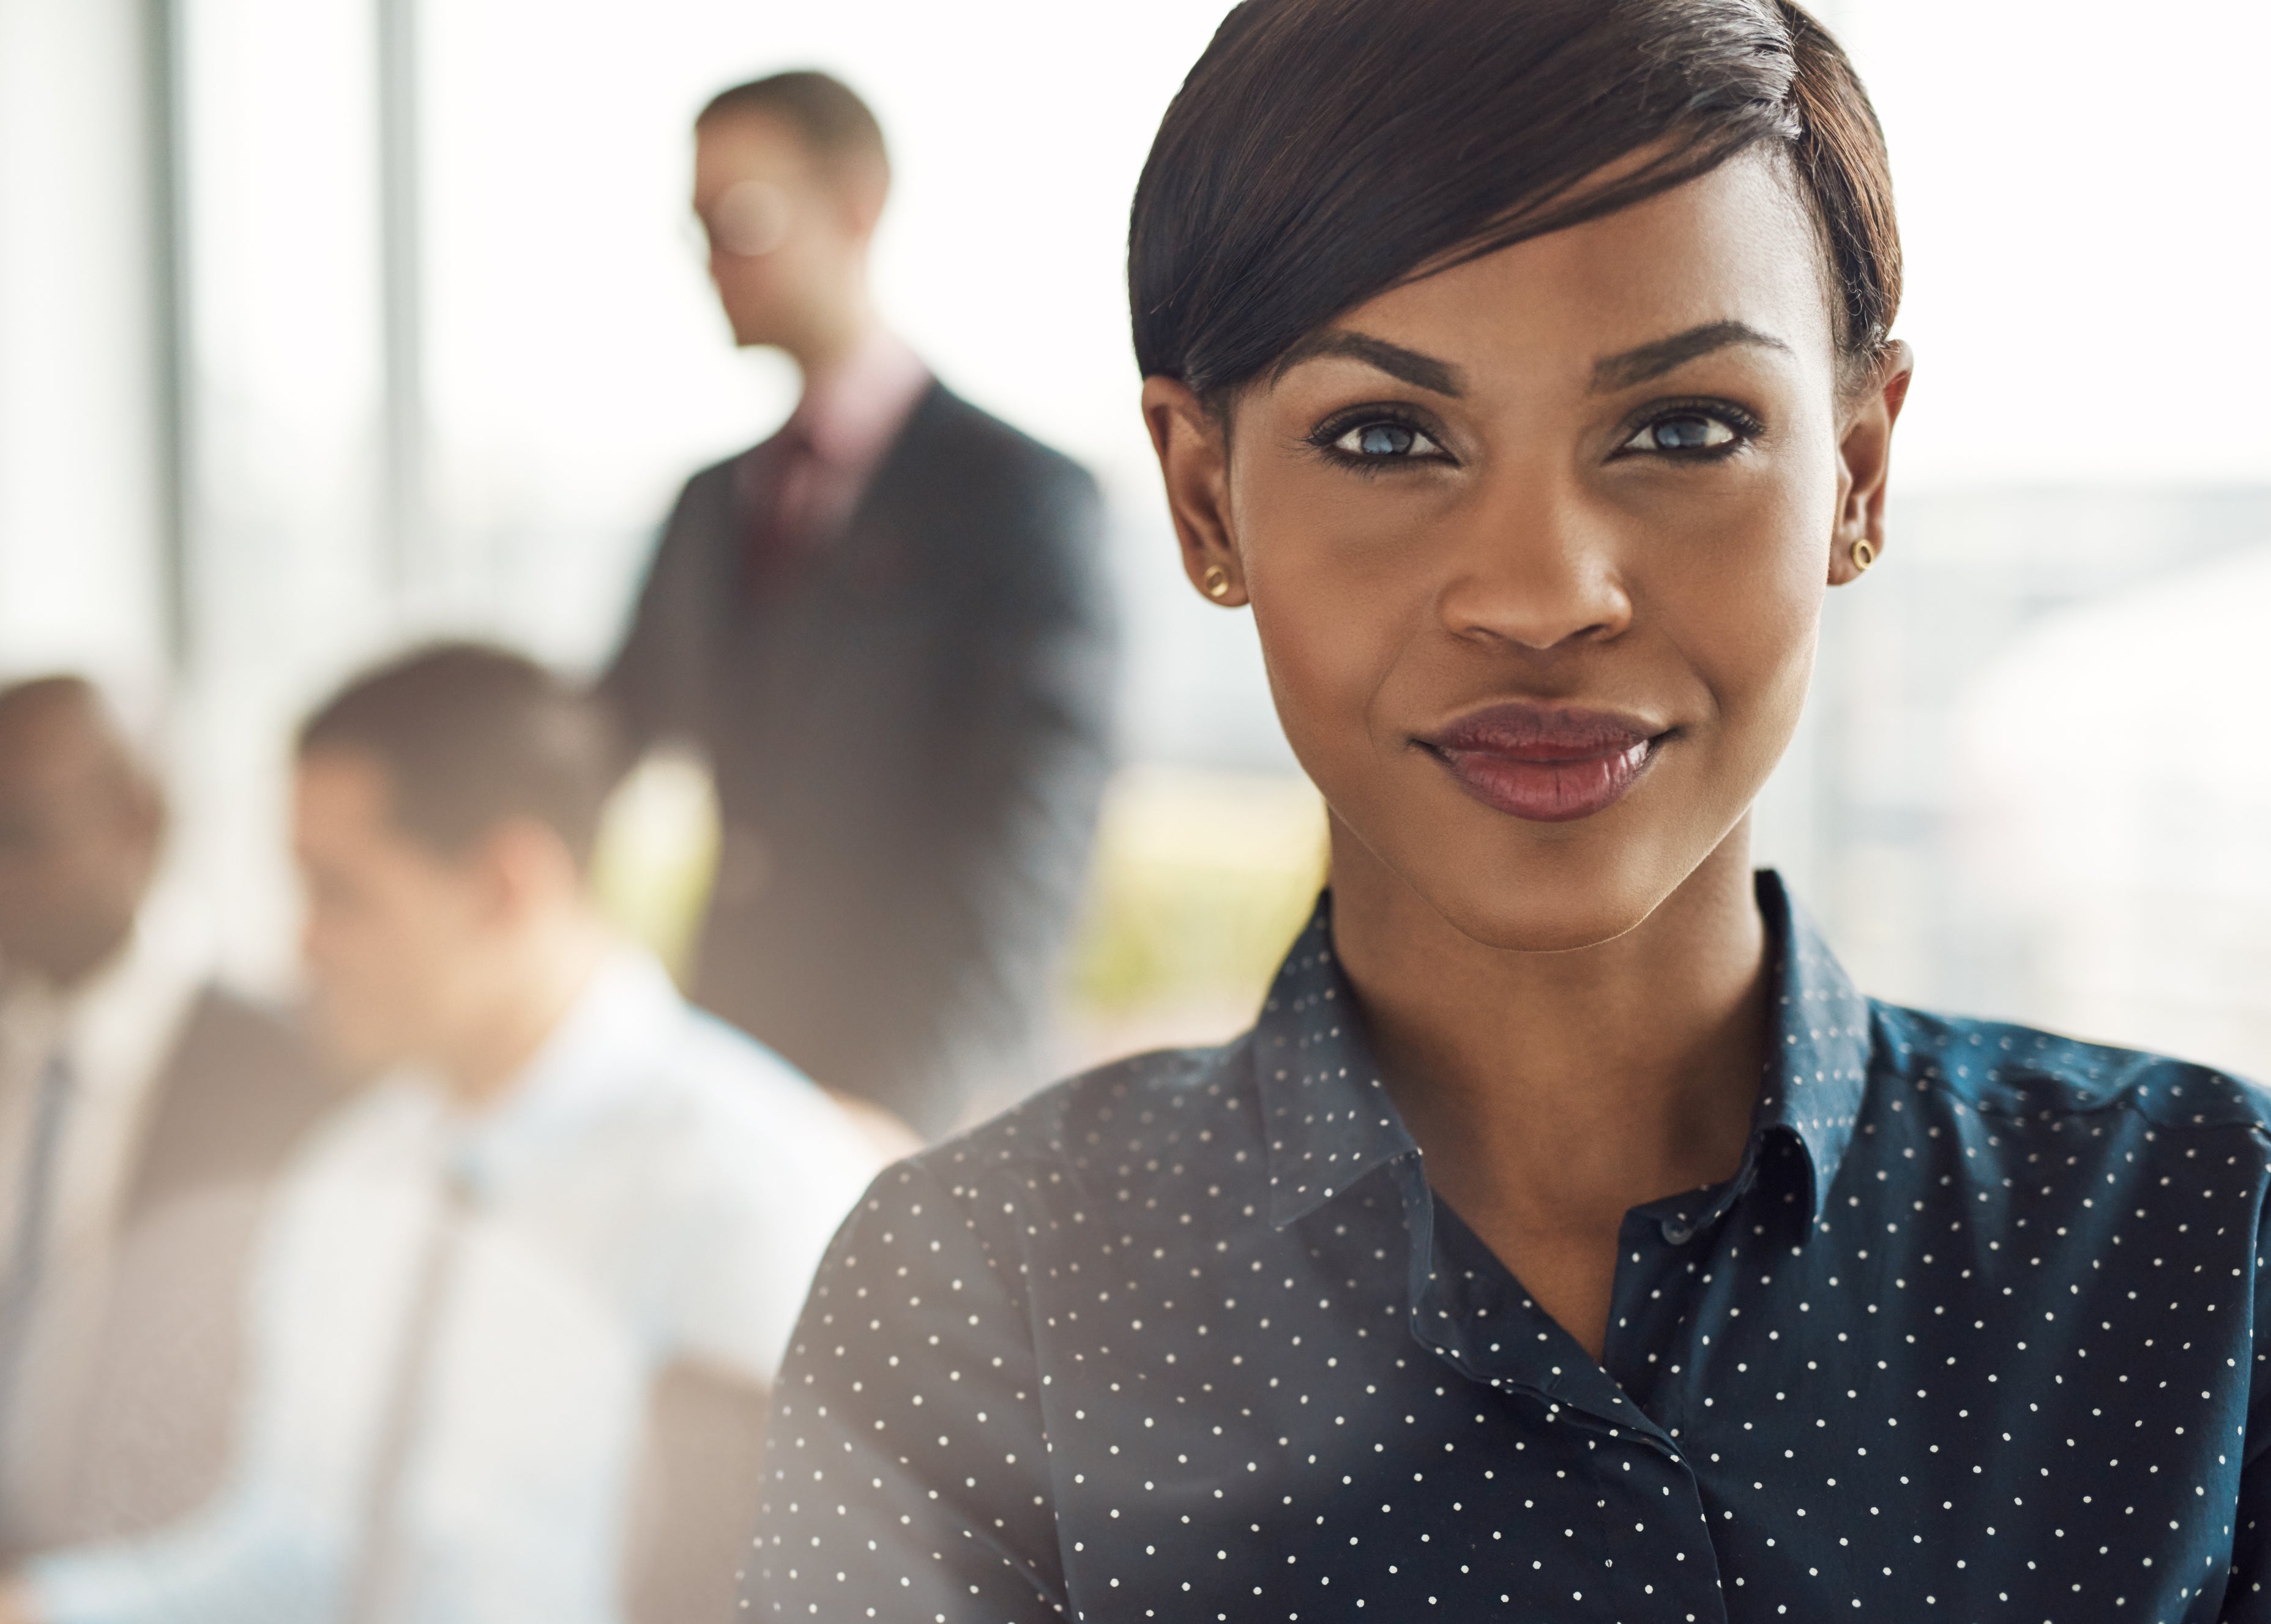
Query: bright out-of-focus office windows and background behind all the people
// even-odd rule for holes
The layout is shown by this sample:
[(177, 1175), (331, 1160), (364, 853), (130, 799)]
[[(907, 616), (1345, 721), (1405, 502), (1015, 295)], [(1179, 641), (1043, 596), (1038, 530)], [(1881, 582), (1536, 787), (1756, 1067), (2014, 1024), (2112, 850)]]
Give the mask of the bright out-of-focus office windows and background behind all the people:
[[(2271, 1074), (2271, 9), (1833, 0), (1889, 127), (1921, 370), (1765, 854), (1889, 997)], [(0, 675), (161, 736), (177, 888), (282, 983), (291, 718), (418, 634), (609, 652), (672, 488), (770, 432), (688, 234), (688, 120), (824, 66), (881, 111), (890, 320), (1113, 502), (1129, 688), (1065, 1056), (1238, 1027), (1319, 813), (1251, 631), (1172, 559), (1126, 200), (1222, 0), (0, 0)], [(665, 945), (699, 777), (622, 802)]]

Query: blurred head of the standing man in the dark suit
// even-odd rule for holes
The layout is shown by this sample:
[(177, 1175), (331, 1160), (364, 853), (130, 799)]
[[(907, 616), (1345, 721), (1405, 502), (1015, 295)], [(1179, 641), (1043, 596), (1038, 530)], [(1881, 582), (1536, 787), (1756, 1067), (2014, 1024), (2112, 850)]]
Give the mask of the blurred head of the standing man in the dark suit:
[(695, 218), (734, 343), (827, 361), (868, 320), (868, 243), (890, 157), (824, 73), (736, 84), (695, 120)]

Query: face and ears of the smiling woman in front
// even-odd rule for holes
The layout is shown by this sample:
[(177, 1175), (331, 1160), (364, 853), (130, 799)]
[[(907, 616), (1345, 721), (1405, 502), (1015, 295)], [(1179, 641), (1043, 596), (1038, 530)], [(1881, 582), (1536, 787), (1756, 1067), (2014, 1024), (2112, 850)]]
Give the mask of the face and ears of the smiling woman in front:
[(1762, 157), (1347, 311), (1226, 432), (1151, 379), (1185, 568), (1254, 606), (1335, 884), (1515, 949), (1649, 918), (1790, 743), (1853, 541), (1883, 550), (1905, 350), (1844, 384)]

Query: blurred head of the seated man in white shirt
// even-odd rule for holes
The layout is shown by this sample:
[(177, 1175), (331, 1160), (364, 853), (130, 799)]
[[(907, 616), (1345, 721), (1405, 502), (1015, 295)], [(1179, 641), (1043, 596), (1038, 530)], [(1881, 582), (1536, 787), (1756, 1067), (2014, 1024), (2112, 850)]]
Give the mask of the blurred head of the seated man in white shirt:
[(586, 870), (618, 768), (593, 697), (491, 647), (411, 654), (309, 718), (293, 845), (338, 1058), (459, 1083), (518, 1068), (597, 938)]

